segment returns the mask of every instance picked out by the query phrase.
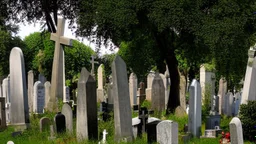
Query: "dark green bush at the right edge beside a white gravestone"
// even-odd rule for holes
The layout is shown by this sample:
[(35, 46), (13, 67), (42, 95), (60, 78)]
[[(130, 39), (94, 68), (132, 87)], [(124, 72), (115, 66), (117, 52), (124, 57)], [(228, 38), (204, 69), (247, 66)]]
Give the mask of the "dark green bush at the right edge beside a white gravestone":
[(239, 118), (242, 122), (244, 139), (256, 141), (256, 101), (240, 105)]

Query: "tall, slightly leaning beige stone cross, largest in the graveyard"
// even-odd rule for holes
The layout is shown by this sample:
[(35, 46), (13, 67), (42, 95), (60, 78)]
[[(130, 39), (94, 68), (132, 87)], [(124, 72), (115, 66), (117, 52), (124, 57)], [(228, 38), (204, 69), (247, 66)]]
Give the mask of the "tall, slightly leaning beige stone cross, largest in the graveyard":
[(52, 65), (51, 97), (47, 106), (49, 111), (56, 111), (56, 97), (62, 99), (64, 94), (65, 62), (63, 45), (72, 46), (72, 39), (63, 36), (64, 28), (65, 20), (58, 18), (57, 32), (51, 34), (51, 40), (55, 41), (55, 50)]

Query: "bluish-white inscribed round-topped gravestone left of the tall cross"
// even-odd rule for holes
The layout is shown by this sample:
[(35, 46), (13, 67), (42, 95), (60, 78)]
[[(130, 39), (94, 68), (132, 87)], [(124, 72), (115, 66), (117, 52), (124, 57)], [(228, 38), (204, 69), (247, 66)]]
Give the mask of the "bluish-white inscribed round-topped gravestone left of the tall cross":
[(41, 81), (37, 81), (34, 84), (34, 103), (33, 112), (41, 114), (44, 112), (45, 104), (45, 88)]

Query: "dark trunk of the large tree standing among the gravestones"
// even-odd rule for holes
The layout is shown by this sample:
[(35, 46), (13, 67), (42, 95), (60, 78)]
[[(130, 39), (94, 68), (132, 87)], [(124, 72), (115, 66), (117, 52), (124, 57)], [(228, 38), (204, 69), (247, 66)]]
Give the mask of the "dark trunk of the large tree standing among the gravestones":
[(178, 61), (172, 50), (169, 50), (166, 57), (166, 63), (170, 73), (171, 87), (166, 114), (174, 112), (175, 108), (180, 105), (180, 75), (178, 70)]

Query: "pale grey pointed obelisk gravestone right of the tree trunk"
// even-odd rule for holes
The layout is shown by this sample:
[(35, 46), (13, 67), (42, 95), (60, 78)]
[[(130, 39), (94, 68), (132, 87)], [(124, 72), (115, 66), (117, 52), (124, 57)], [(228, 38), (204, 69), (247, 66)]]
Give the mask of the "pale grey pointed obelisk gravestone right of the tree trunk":
[(194, 79), (189, 88), (189, 115), (188, 115), (188, 131), (195, 137), (201, 135), (201, 124), (202, 124), (202, 96), (201, 86)]

